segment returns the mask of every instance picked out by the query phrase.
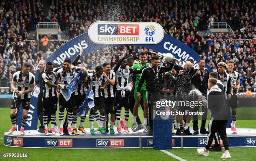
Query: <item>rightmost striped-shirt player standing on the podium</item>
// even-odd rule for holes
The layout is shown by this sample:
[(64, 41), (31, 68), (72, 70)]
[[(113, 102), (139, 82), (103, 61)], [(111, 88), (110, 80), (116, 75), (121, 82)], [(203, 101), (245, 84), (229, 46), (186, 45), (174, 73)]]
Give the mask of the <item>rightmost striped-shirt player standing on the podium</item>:
[(239, 78), (239, 73), (234, 71), (234, 67), (235, 67), (235, 62), (233, 60), (229, 60), (228, 61), (228, 74), (231, 77), (231, 99), (229, 101), (229, 107), (232, 108), (232, 112), (231, 112), (231, 130), (233, 131), (233, 133), (237, 133), (236, 131), (236, 109), (237, 109), (237, 102), (238, 102), (238, 98), (237, 98), (237, 93), (238, 93), (238, 89), (240, 88), (240, 78)]

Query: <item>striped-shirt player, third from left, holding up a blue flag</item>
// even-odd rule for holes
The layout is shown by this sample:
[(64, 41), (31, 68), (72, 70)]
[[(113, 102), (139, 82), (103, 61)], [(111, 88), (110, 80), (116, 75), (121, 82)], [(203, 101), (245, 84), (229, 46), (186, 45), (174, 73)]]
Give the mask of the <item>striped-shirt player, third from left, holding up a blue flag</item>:
[[(83, 70), (83, 72), (86, 72), (86, 68), (84, 67), (76, 67), (74, 65), (71, 65), (71, 60), (69, 58), (64, 60), (63, 68), (59, 69), (56, 73), (57, 75), (57, 82), (59, 81), (61, 85), (66, 85), (69, 83), (80, 70)], [(61, 86), (62, 88), (62, 86)], [(65, 87), (64, 87), (65, 88)], [(62, 96), (62, 94), (59, 94), (59, 133), (63, 135), (63, 117), (64, 117), (64, 110), (67, 108), (68, 111), (68, 125), (67, 125), (67, 131), (69, 135), (72, 135), (71, 125), (73, 121), (73, 110), (74, 110), (74, 93), (71, 94), (71, 97), (68, 101), (65, 100), (65, 98)]]

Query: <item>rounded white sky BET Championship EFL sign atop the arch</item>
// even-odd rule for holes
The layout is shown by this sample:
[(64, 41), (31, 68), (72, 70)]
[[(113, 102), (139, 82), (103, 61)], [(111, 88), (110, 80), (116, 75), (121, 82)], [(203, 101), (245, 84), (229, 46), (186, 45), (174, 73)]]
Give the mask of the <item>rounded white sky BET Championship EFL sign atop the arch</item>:
[(164, 38), (164, 29), (158, 23), (95, 22), (88, 35), (94, 43), (156, 44)]

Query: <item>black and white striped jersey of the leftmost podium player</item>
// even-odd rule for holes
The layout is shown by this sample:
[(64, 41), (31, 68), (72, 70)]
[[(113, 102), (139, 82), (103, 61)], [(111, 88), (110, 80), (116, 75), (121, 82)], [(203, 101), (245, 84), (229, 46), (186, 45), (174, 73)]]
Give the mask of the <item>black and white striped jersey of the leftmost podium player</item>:
[[(26, 76), (23, 76), (22, 70), (21, 70), (13, 74), (13, 82), (16, 82), (16, 90), (26, 91), (30, 88), (31, 84), (35, 83), (35, 75), (29, 72)], [(20, 98), (20, 99), (27, 99), (27, 98), (31, 98), (31, 93), (24, 93), (20, 97), (18, 97), (17, 94), (13, 92), (13, 97)]]

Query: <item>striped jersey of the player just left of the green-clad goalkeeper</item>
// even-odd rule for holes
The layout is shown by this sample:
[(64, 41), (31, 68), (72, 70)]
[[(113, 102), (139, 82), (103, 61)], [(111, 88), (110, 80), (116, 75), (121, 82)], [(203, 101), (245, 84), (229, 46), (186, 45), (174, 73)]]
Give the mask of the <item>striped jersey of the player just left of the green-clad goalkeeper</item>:
[[(132, 68), (130, 68), (132, 69)], [(128, 86), (130, 69), (118, 68), (115, 72), (116, 90), (122, 90), (124, 87)], [(132, 69), (133, 70), (133, 69)]]

